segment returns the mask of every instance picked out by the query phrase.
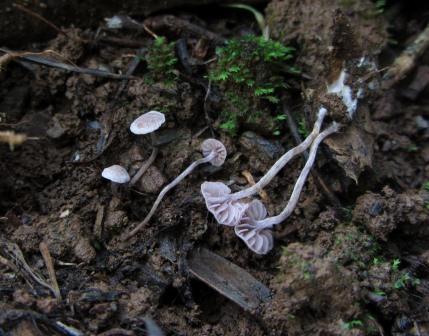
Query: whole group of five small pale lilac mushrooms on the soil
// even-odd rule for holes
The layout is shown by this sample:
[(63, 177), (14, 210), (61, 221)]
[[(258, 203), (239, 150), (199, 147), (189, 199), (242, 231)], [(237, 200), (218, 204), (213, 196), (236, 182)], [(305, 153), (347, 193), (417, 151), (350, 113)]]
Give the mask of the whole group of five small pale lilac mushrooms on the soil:
[[(307, 138), (301, 144), (290, 149), (281, 156), (258, 183), (253, 186), (232, 193), (231, 189), (222, 182), (204, 182), (201, 185), (201, 193), (204, 197), (207, 209), (213, 214), (216, 221), (219, 224), (234, 227), (235, 234), (241, 238), (253, 252), (257, 254), (266, 254), (273, 248), (272, 228), (274, 225), (285, 221), (292, 214), (298, 203), (300, 193), (310, 173), (311, 167), (314, 164), (320, 143), (326, 137), (339, 130), (339, 125), (333, 122), (331, 126), (321, 131), (326, 113), (327, 110), (321, 107), (314, 128)], [(147, 162), (151, 163), (157, 153), (157, 148), (154, 145), (155, 135), (153, 132), (161, 127), (164, 122), (165, 117), (161, 112), (150, 111), (138, 117), (130, 126), (130, 130), (134, 134), (150, 133), (152, 136), (153, 151)], [(293, 188), (288, 204), (277, 216), (267, 217), (267, 210), (264, 204), (260, 200), (251, 200), (250, 198), (268, 185), (292, 158), (303, 153), (308, 148), (310, 148), (310, 153), (307, 162)], [(167, 192), (179, 184), (179, 182), (188, 176), (197, 166), (203, 163), (210, 163), (213, 166), (219, 167), (225, 162), (227, 155), (225, 146), (216, 139), (204, 140), (201, 145), (201, 151), (203, 157), (191, 163), (179, 176), (161, 190), (147, 216), (133, 230), (125, 235), (125, 239), (133, 236), (149, 222)], [(130, 181), (130, 184), (133, 185), (140, 179), (150, 165), (150, 163), (148, 164), (147, 162), (142, 165), (132, 179), (130, 179), (126, 169), (119, 165), (105, 168), (102, 172), (102, 176), (112, 181), (115, 185), (128, 183)]]

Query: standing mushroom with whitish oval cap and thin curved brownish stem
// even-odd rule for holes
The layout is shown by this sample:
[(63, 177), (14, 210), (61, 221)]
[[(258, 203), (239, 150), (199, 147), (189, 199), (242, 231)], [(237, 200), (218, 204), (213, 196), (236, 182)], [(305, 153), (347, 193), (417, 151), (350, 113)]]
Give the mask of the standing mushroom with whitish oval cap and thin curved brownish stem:
[(165, 116), (163, 113), (158, 111), (144, 113), (131, 123), (130, 131), (132, 133), (137, 135), (150, 133), (152, 141), (152, 153), (149, 159), (140, 167), (140, 169), (131, 179), (131, 186), (133, 186), (142, 177), (153, 161), (155, 161), (155, 158), (158, 155), (158, 147), (155, 146), (156, 136), (154, 132), (160, 128), (163, 123), (165, 123)]

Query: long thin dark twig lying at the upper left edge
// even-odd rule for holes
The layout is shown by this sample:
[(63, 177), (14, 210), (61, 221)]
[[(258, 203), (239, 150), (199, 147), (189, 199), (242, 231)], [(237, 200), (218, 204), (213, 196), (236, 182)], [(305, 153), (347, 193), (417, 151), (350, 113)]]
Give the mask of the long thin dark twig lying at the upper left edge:
[(82, 73), (82, 74), (87, 74), (87, 75), (92, 75), (97, 77), (111, 78), (111, 79), (132, 79), (133, 78), (130, 76), (114, 74), (108, 71), (102, 71), (98, 69), (87, 69), (87, 68), (81, 68), (78, 66), (72, 66), (66, 63), (58, 62), (50, 57), (38, 56), (37, 55), (38, 53), (27, 53), (27, 52), (19, 53), (19, 52), (10, 51), (4, 48), (0, 48), (0, 51), (5, 54), (12, 54), (14, 56), (13, 59), (18, 58), (23, 61), (42, 64), (51, 68), (61, 69), (65, 71), (77, 72), (77, 73)]

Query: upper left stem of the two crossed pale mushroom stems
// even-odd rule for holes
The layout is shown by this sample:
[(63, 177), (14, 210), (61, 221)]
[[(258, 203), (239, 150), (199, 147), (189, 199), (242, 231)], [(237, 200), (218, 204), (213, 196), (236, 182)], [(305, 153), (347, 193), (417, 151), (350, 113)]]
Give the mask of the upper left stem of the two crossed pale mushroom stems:
[(268, 183), (270, 183), (270, 181), (293, 157), (303, 153), (308, 147), (310, 147), (314, 139), (320, 133), (320, 128), (322, 127), (323, 119), (325, 118), (326, 113), (327, 113), (327, 110), (324, 107), (321, 107), (317, 114), (317, 120), (314, 124), (313, 130), (310, 133), (310, 135), (298, 146), (292, 148), (291, 150), (283, 154), (283, 156), (281, 156), (280, 159), (278, 159), (277, 162), (274, 163), (274, 165), (258, 181), (258, 183), (254, 184), (249, 188), (233, 193), (228, 198), (230, 200), (239, 200), (242, 198), (250, 197), (256, 193), (259, 193)]

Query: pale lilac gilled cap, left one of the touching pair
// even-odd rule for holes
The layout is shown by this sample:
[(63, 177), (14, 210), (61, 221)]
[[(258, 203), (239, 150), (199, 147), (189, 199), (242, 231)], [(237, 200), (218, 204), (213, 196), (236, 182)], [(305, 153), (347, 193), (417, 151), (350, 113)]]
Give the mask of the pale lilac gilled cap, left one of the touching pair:
[(240, 222), (247, 204), (229, 200), (229, 189), (222, 182), (204, 182), (201, 193), (206, 201), (207, 209), (219, 224), (235, 226)]

